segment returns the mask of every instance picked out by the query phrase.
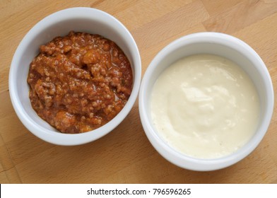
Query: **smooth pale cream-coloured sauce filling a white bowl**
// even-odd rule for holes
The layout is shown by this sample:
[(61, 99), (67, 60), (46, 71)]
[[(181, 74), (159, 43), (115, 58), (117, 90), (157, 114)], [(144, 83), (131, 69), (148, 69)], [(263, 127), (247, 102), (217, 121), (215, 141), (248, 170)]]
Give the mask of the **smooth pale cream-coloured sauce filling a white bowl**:
[(177, 151), (220, 158), (251, 139), (259, 122), (259, 96), (237, 64), (223, 57), (185, 57), (159, 76), (151, 95), (156, 131)]

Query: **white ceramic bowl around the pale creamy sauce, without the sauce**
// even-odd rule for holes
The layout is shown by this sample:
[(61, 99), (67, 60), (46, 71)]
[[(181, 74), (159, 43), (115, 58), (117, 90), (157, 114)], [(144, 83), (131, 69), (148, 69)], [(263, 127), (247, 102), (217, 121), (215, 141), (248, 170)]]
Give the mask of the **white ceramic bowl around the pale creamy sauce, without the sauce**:
[[(247, 72), (260, 99), (260, 120), (257, 132), (252, 139), (230, 156), (216, 159), (199, 159), (186, 156), (172, 147), (155, 132), (151, 122), (150, 98), (153, 85), (158, 76), (182, 57), (192, 54), (216, 54), (237, 63)], [(175, 40), (161, 50), (148, 66), (141, 82), (139, 93), (139, 113), (143, 129), (154, 148), (167, 161), (189, 170), (217, 170), (228, 167), (245, 158), (256, 148), (263, 139), (271, 122), (273, 113), (273, 86), (269, 71), (259, 55), (242, 40), (223, 33), (195, 33)]]

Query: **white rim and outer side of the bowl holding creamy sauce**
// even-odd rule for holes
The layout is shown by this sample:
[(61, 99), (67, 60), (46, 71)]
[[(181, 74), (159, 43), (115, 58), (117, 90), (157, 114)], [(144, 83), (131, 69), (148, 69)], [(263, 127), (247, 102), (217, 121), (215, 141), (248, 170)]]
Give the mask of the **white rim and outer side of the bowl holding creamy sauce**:
[[(158, 67), (158, 63), (167, 54), (170, 54), (174, 50), (178, 49), (178, 47), (182, 47), (182, 45), (190, 45), (199, 42), (210, 42), (215, 44), (227, 45), (228, 47), (232, 47), (235, 50), (238, 50), (240, 53), (244, 54), (248, 53), (249, 56), (255, 57), (257, 64), (259, 64), (259, 74), (261, 74), (262, 78), (264, 78), (267, 88), (268, 97), (266, 100), (265, 107), (265, 117), (261, 123), (261, 130), (257, 132), (253, 136), (253, 138), (239, 151), (230, 154), (229, 156), (223, 156), (222, 158), (214, 158), (214, 159), (201, 159), (201, 158), (193, 158), (190, 156), (186, 156), (179, 151), (176, 151), (171, 146), (167, 145), (163, 139), (158, 136), (153, 127), (151, 126), (151, 115), (148, 115), (146, 110), (146, 95), (150, 93), (146, 93), (146, 88), (148, 86), (148, 82), (155, 72), (155, 69)], [(244, 51), (245, 50), (245, 51)], [(218, 170), (222, 168), (226, 168), (230, 165), (241, 161), (243, 158), (252, 153), (255, 148), (257, 148), (261, 139), (263, 139), (266, 131), (271, 122), (271, 117), (273, 114), (273, 103), (274, 103), (274, 93), (273, 93), (273, 85), (271, 81), (271, 77), (269, 75), (269, 71), (266, 69), (266, 65), (261, 60), (261, 57), (255, 52), (252, 47), (247, 45), (242, 40), (237, 37), (233, 37), (231, 35), (227, 35), (224, 33), (214, 33), (214, 32), (203, 32), (203, 33), (192, 33), (190, 35), (184, 35), (183, 37), (178, 38), (170, 42), (169, 45), (165, 46), (152, 60), (152, 62), (148, 65), (146, 72), (143, 76), (143, 80), (141, 81), (141, 88), (139, 92), (139, 114), (141, 118), (141, 123), (143, 125), (144, 132), (148, 137), (148, 140), (151, 142), (153, 147), (155, 148), (161, 156), (163, 156), (167, 161), (181, 167), (186, 168), (188, 170), (196, 170), (196, 171), (209, 171), (209, 170)]]

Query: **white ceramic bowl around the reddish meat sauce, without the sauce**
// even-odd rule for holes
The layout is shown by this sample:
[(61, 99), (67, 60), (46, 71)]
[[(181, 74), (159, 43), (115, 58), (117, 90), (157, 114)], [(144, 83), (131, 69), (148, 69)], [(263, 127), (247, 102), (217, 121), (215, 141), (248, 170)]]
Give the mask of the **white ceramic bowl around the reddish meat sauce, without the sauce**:
[[(133, 70), (134, 84), (130, 98), (113, 120), (104, 126), (83, 134), (62, 134), (37, 116), (29, 94), (27, 76), (30, 62), (39, 53), (40, 45), (54, 37), (67, 35), (70, 30), (102, 35), (119, 45), (124, 51)], [(108, 134), (124, 120), (133, 107), (141, 82), (141, 58), (134, 38), (116, 18), (94, 8), (69, 8), (47, 16), (37, 23), (18, 45), (11, 62), (9, 91), (11, 102), (21, 122), (30, 132), (52, 144), (86, 144)]]

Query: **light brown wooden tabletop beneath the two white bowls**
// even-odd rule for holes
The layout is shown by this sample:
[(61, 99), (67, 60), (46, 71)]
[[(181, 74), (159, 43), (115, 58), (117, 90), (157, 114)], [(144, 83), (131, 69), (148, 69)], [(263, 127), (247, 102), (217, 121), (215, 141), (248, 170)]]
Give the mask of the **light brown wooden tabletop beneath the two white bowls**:
[(30, 28), (64, 8), (87, 6), (112, 14), (139, 46), (143, 74), (172, 40), (216, 31), (247, 42), (260, 54), (277, 87), (277, 1), (39, 1), (0, 0), (1, 183), (277, 183), (277, 116), (259, 147), (240, 163), (194, 172), (167, 162), (151, 146), (138, 103), (113, 132), (82, 146), (54, 146), (20, 123), (8, 93), (13, 53)]

